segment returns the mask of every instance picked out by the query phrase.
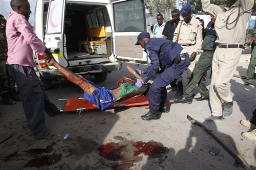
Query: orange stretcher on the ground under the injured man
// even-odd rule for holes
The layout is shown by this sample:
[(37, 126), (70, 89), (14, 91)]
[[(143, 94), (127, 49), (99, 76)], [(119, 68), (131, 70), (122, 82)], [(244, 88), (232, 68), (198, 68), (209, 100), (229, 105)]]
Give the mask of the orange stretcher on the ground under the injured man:
[[(171, 100), (166, 100), (166, 102), (171, 103)], [(124, 101), (114, 102), (109, 109), (115, 107), (131, 107), (131, 106), (144, 106), (148, 105), (148, 98), (145, 96), (134, 96)], [(93, 110), (97, 109), (96, 105), (90, 104), (85, 98), (68, 98), (66, 99), (65, 106), (60, 112), (74, 112), (83, 110)]]

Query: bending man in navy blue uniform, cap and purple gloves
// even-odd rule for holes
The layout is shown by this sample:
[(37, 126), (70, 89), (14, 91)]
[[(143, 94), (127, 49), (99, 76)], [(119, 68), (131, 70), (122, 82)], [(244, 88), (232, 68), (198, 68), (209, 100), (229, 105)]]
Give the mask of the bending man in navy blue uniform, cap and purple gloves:
[(138, 70), (145, 74), (142, 81), (147, 82), (156, 71), (161, 73), (153, 81), (148, 93), (149, 111), (141, 116), (142, 120), (159, 119), (161, 106), (167, 98), (166, 86), (175, 80), (190, 65), (190, 58), (186, 51), (176, 42), (163, 38), (150, 38), (149, 33), (141, 32), (137, 36), (135, 45), (140, 45), (149, 56), (150, 66)]

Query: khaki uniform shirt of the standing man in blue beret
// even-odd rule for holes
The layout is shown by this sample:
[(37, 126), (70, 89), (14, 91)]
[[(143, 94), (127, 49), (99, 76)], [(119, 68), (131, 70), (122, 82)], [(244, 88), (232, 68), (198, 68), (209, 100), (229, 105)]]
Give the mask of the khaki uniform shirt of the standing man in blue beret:
[[(174, 31), (173, 34), (173, 42), (177, 40), (178, 37), (178, 44), (180, 45), (188, 45), (188, 44), (195, 44), (194, 51), (197, 52), (198, 49), (201, 48), (202, 43), (202, 25), (201, 22), (197, 19), (191, 18), (189, 24), (186, 24), (184, 20), (182, 20), (182, 24), (180, 27), (180, 22)], [(180, 32), (178, 36), (178, 31), (180, 27)]]

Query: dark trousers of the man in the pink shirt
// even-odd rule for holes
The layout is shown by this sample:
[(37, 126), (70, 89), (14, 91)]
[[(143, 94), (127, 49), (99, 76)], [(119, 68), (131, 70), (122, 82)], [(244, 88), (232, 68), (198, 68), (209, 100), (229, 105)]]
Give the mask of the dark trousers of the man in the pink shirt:
[(29, 129), (36, 139), (48, 134), (44, 124), (44, 111), (51, 115), (58, 108), (50, 103), (43, 83), (30, 66), (8, 65), (8, 70), (17, 84)]

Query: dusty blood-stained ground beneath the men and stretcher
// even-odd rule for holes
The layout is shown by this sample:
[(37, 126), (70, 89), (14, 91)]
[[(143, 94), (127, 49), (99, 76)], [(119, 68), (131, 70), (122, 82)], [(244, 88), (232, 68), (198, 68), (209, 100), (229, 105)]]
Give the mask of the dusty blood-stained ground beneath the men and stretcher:
[[(247, 66), (248, 62), (239, 62), (235, 74), (246, 76)], [(123, 75), (129, 75), (125, 64), (120, 71), (109, 74), (105, 82), (97, 84), (114, 88), (115, 82)], [(186, 85), (186, 75), (183, 77)], [(94, 80), (90, 76), (86, 78)], [(147, 106), (85, 110), (80, 117), (76, 112), (54, 117), (45, 114), (46, 126), (57, 135), (53, 140), (34, 139), (20, 102), (13, 106), (0, 104), (0, 170), (91, 170), (93, 167), (101, 167), (97, 168), (100, 170), (243, 169), (241, 166), (236, 168), (233, 165), (235, 160), (202, 128), (191, 124), (187, 115), (200, 122), (232, 152), (237, 150), (251, 169), (256, 170), (256, 143), (241, 137), (241, 132), (248, 129), (239, 124), (242, 119), (250, 119), (256, 108), (255, 89), (252, 85), (243, 86), (243, 83), (238, 76), (231, 79), (233, 115), (221, 122), (203, 122), (210, 115), (208, 101), (194, 100), (192, 104), (171, 104), (169, 113), (153, 121), (140, 119), (148, 111)], [(175, 92), (170, 86), (167, 86), (167, 91), (168, 99), (172, 99)], [(59, 109), (63, 108), (65, 101), (58, 99), (82, 97), (78, 88), (67, 81), (52, 82), (52, 89), (46, 92)], [(199, 97), (197, 87), (194, 93)], [(63, 139), (65, 134), (69, 135), (67, 139)], [(216, 156), (209, 154), (211, 147), (220, 150)], [(116, 163), (120, 165), (111, 166)]]

